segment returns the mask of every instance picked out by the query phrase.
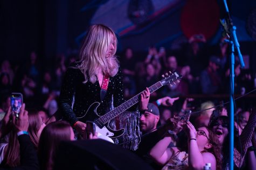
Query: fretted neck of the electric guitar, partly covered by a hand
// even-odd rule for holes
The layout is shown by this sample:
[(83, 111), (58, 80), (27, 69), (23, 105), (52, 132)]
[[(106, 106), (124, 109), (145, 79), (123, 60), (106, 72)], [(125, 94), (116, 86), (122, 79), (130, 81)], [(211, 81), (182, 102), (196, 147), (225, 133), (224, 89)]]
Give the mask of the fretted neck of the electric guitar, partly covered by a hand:
[[(150, 86), (149, 92), (150, 94), (153, 93), (154, 91), (158, 90), (158, 88), (162, 87), (162, 83), (161, 82), (157, 82), (156, 84)], [(142, 92), (141, 92), (142, 93)], [(128, 108), (132, 107), (133, 105), (137, 104), (137, 102), (139, 102), (140, 100), (140, 94), (135, 95), (133, 98), (127, 100), (126, 102), (124, 102), (122, 105), (116, 107), (115, 109), (111, 110), (110, 112), (106, 113), (105, 115), (101, 116), (98, 120), (105, 124), (107, 122), (109, 122), (110, 120), (114, 119), (116, 116), (120, 115), (121, 113), (123, 113), (125, 110), (127, 110)]]

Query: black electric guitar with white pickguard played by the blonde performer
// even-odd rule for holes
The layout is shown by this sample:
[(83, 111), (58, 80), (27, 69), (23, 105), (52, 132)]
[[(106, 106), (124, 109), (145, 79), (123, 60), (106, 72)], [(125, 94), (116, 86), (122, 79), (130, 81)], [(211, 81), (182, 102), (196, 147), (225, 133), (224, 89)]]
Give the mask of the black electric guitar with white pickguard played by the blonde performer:
[[(163, 77), (162, 80), (160, 80), (159, 82), (157, 82), (154, 85), (149, 87), (150, 94), (153, 93), (154, 91), (158, 90), (158, 88), (160, 88), (164, 85), (172, 86), (173, 84), (179, 83), (179, 79), (182, 78), (182, 76), (179, 75), (178, 72), (174, 72), (174, 73), (170, 72), (170, 75), (168, 75), (168, 73), (165, 73), (165, 76), (162, 75), (162, 77)], [(95, 128), (96, 128), (95, 131), (96, 132), (100, 133), (103, 136), (107, 136), (110, 138), (120, 137), (121, 135), (123, 135), (124, 129), (119, 129), (119, 130), (111, 129), (109, 127), (109, 121), (114, 119), (116, 116), (120, 115), (121, 113), (123, 113), (128, 108), (135, 105), (137, 102), (139, 102), (140, 94), (141, 93), (135, 95), (135, 97), (133, 97), (132, 99), (127, 100), (126, 102), (124, 102), (120, 106), (114, 108), (113, 110), (109, 111), (108, 113), (106, 113), (103, 116), (100, 116), (97, 113), (97, 108), (100, 106), (100, 102), (94, 102), (91, 106), (89, 106), (85, 115), (78, 117), (78, 120), (81, 122), (86, 122), (88, 120), (84, 120), (84, 117), (87, 114), (94, 113), (96, 115), (96, 117), (98, 117), (97, 119), (92, 120), (95, 123)], [(91, 121), (91, 120), (89, 120), (89, 121)]]

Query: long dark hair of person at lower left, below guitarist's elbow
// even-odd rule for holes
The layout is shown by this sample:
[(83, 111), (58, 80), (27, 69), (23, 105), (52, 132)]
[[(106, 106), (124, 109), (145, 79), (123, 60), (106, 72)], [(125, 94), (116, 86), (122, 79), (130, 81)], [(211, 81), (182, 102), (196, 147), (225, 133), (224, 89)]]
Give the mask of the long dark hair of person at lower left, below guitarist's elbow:
[(38, 145), (38, 159), (40, 169), (51, 170), (56, 150), (61, 141), (70, 141), (71, 125), (65, 121), (52, 122), (44, 128)]

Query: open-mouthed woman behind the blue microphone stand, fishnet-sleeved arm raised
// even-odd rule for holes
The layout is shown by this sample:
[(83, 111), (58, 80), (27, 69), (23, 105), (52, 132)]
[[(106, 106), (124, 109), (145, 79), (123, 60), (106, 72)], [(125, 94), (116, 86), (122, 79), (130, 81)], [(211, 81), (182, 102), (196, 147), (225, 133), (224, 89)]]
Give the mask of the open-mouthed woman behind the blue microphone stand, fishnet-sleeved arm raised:
[[(227, 116), (220, 116), (219, 112), (215, 112), (212, 114), (209, 128), (213, 130), (216, 136), (219, 139), (219, 142), (222, 146), (222, 157), (223, 157), (223, 165), (222, 167), (229, 168), (229, 118)], [(244, 166), (245, 156), (248, 148), (252, 145), (252, 138), (254, 134), (254, 129), (256, 127), (256, 112), (253, 110), (251, 113), (247, 124), (245, 125), (241, 135), (239, 135), (238, 130), (236, 130), (235, 138), (240, 138), (240, 140), (235, 140), (234, 142), (234, 165), (238, 168)], [(236, 128), (236, 126), (235, 126)], [(251, 148), (251, 147), (250, 147)], [(254, 154), (250, 154), (250, 160), (255, 162), (256, 158)], [(254, 157), (253, 157), (254, 156)], [(251, 163), (253, 161), (250, 161)], [(253, 165), (249, 165), (253, 166)]]

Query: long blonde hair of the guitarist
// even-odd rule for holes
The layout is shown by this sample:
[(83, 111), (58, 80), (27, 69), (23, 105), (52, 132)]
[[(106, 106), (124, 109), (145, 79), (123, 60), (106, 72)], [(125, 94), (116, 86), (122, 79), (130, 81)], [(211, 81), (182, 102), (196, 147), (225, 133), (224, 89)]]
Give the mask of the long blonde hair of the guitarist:
[[(114, 50), (106, 57), (108, 47), (113, 43)], [(79, 69), (85, 76), (84, 83), (95, 83), (97, 73), (115, 76), (119, 62), (116, 58), (117, 39), (113, 30), (105, 25), (96, 24), (89, 27), (86, 38), (80, 50), (81, 64)]]

